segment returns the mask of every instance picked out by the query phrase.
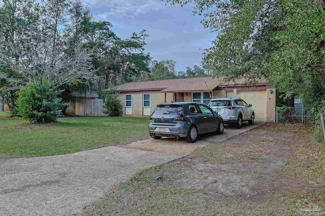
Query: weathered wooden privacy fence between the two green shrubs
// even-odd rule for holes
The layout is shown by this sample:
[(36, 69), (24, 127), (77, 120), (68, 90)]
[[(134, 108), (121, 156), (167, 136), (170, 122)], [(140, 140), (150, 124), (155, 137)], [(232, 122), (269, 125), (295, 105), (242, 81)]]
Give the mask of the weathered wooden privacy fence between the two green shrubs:
[(68, 115), (105, 116), (102, 99), (77, 99), (70, 101)]

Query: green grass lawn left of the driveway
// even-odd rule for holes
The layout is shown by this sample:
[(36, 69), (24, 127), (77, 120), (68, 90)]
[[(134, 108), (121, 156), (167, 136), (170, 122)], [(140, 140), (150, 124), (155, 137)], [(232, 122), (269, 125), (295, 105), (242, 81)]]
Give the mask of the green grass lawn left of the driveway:
[(74, 117), (29, 124), (0, 112), (0, 158), (69, 154), (149, 138), (148, 118)]

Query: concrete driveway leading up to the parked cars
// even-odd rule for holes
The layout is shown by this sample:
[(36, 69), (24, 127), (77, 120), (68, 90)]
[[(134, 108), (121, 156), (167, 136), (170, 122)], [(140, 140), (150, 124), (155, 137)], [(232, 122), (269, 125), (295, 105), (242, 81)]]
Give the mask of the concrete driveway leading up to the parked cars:
[(186, 156), (197, 147), (222, 142), (260, 124), (225, 127), (196, 143), (144, 140), (68, 155), (0, 159), (0, 215), (76, 215), (139, 169)]

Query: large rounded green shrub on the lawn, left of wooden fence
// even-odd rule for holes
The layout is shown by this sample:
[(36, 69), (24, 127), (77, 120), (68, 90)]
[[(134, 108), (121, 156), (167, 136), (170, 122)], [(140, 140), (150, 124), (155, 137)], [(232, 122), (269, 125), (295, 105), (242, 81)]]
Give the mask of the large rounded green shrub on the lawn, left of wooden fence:
[(30, 82), (19, 91), (18, 113), (33, 123), (56, 121), (62, 107), (58, 94), (47, 82)]

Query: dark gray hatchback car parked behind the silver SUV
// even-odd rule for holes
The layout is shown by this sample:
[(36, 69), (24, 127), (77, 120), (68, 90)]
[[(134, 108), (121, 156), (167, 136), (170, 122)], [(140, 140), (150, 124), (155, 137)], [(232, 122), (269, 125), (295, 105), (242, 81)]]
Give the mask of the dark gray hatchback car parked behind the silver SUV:
[(222, 117), (202, 103), (177, 102), (159, 104), (150, 116), (149, 134), (153, 139), (161, 137), (186, 138), (193, 143), (199, 134), (222, 134)]

